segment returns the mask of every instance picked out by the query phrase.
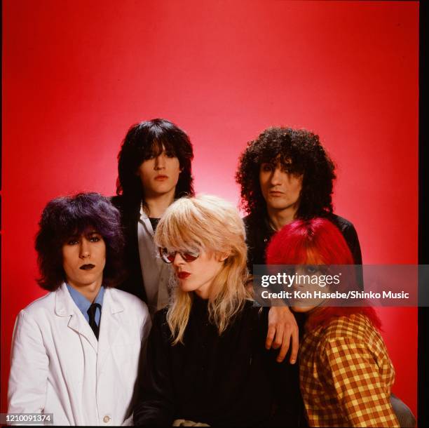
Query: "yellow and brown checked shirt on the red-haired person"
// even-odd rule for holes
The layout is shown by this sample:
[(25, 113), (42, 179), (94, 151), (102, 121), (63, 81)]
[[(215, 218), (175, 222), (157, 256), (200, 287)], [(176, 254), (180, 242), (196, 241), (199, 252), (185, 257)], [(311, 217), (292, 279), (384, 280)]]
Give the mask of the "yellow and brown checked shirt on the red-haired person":
[(311, 427), (399, 427), (390, 405), (395, 370), (365, 315), (334, 318), (300, 346), (299, 376)]

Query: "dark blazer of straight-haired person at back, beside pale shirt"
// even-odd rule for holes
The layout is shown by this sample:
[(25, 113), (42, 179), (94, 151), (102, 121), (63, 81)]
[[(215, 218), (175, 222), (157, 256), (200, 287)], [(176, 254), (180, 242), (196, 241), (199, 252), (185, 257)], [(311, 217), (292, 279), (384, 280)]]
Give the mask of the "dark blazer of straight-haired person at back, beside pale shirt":
[(121, 213), (121, 222), (125, 237), (123, 265), (127, 272), (127, 276), (125, 277), (125, 281), (117, 288), (127, 291), (139, 297), (144, 302), (147, 302), (142, 267), (140, 266), (139, 241), (137, 237), (140, 206), (137, 203), (128, 203), (123, 196), (113, 196), (110, 201)]

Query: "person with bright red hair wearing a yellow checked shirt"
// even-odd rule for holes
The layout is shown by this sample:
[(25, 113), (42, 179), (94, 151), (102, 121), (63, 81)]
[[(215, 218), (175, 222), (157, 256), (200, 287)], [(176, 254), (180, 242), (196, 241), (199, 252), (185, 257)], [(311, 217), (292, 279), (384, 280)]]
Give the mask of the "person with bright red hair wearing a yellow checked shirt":
[[(268, 265), (304, 265), (297, 271), (310, 269), (308, 272), (318, 275), (329, 269), (321, 265), (346, 265), (347, 271), (354, 264), (343, 235), (325, 218), (294, 220), (283, 227), (269, 243), (266, 261)], [(356, 284), (349, 282), (353, 275), (346, 277), (348, 281), (325, 286), (322, 291), (353, 288)], [(306, 318), (299, 348), (299, 380), (308, 424), (399, 427), (390, 403), (395, 370), (374, 308), (326, 307), (327, 303), (290, 302), (294, 312), (304, 313)]]

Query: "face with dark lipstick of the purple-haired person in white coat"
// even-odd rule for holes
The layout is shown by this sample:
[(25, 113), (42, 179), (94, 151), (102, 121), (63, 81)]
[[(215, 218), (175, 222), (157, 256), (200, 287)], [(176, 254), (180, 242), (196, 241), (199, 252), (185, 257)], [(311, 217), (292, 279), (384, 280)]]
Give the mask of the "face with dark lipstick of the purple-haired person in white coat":
[(62, 267), (67, 283), (82, 290), (100, 287), (106, 265), (106, 244), (95, 230), (71, 236), (62, 246)]

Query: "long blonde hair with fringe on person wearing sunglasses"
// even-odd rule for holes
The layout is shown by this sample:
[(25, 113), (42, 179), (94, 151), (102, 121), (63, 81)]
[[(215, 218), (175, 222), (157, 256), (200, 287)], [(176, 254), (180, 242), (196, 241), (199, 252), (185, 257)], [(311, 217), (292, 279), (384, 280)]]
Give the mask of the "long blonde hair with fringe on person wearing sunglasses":
[[(158, 223), (154, 241), (168, 250), (228, 255), (214, 277), (208, 299), (209, 319), (221, 335), (249, 297), (245, 288), (248, 277), (245, 227), (237, 209), (217, 196), (178, 199)], [(192, 302), (192, 293), (175, 287), (167, 312), (173, 345), (183, 343)]]

